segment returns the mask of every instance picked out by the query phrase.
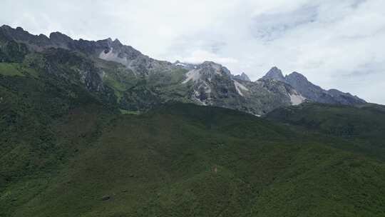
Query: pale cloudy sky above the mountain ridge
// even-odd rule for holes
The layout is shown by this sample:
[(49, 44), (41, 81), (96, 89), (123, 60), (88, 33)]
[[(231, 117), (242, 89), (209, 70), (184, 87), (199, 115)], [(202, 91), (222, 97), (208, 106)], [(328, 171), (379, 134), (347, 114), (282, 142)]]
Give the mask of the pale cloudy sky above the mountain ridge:
[(272, 66), (385, 104), (384, 0), (2, 0), (0, 24), (118, 38), (155, 59), (216, 61), (259, 79)]

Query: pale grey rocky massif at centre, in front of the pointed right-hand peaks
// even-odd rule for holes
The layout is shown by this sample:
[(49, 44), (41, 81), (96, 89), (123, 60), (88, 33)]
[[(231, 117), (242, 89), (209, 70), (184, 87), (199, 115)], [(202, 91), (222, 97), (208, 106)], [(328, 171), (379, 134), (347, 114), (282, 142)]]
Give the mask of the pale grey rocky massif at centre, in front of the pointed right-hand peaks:
[(209, 61), (188, 71), (183, 84), (191, 90), (189, 99), (197, 104), (237, 109), (255, 115), (290, 106), (292, 97), (300, 96), (292, 86), (283, 82), (237, 79), (224, 66)]

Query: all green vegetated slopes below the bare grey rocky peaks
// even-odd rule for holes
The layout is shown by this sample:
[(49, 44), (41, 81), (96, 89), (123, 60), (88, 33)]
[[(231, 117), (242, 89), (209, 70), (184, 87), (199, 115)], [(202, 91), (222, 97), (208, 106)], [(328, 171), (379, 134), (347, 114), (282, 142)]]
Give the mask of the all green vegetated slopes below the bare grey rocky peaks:
[(0, 216), (385, 215), (385, 164), (361, 143), (381, 151), (381, 109), (268, 116), (285, 124), (192, 104), (138, 113), (117, 91), (166, 90), (116, 84), (131, 76), (118, 69), (103, 84), (61, 49), (14, 53), (0, 63)]

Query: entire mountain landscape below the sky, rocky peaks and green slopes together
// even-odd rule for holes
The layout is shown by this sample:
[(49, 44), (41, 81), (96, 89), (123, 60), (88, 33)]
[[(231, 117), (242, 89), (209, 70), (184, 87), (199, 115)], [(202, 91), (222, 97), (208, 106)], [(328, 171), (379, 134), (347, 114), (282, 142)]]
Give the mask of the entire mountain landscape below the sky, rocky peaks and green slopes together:
[(385, 216), (384, 132), (295, 72), (0, 27), (1, 217)]

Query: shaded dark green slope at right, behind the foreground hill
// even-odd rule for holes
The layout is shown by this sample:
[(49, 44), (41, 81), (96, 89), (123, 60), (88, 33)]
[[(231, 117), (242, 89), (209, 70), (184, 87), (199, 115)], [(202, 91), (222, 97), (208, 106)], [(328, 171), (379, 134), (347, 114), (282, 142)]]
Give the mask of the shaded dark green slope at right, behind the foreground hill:
[(331, 139), (342, 138), (339, 146), (345, 143), (351, 151), (385, 159), (385, 106), (308, 103), (277, 109), (267, 118), (294, 126), (299, 131), (318, 132)]

